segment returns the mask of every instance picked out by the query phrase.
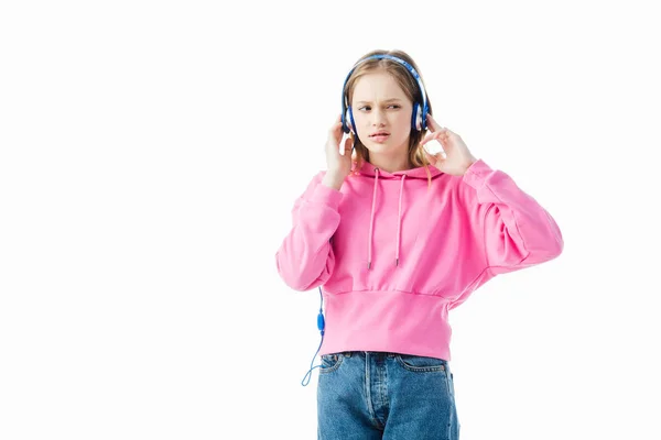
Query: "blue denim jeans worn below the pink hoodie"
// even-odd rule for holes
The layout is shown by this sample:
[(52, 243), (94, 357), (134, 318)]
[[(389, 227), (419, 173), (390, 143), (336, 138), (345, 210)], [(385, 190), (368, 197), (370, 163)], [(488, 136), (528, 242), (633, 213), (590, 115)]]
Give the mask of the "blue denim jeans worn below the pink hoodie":
[(322, 356), (317, 439), (458, 438), (454, 376), (447, 361), (373, 351)]

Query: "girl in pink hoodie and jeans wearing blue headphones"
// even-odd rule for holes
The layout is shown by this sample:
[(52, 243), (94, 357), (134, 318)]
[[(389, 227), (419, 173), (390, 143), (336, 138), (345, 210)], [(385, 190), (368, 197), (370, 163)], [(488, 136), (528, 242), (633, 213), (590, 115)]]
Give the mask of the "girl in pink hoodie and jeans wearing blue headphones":
[(291, 288), (323, 287), (318, 438), (458, 439), (448, 312), (496, 275), (560, 255), (560, 229), (432, 118), (401, 51), (349, 72), (326, 162), (275, 255)]

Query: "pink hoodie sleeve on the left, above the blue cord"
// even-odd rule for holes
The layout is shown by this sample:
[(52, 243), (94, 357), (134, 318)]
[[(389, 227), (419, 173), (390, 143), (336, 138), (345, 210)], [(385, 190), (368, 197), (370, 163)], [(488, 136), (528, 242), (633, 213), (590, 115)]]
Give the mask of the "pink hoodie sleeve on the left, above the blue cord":
[(294, 290), (326, 283), (335, 267), (330, 238), (339, 224), (342, 193), (322, 185), (317, 174), (294, 202), (292, 229), (275, 253), (278, 273)]

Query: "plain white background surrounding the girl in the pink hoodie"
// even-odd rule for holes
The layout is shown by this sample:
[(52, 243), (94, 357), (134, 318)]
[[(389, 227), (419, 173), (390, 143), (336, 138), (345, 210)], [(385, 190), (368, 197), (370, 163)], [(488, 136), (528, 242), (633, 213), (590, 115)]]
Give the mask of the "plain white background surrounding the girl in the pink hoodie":
[(316, 438), (274, 255), (375, 48), (565, 240), (453, 310), (462, 439), (661, 437), (653, 2), (357, 3), (2, 3), (0, 438)]

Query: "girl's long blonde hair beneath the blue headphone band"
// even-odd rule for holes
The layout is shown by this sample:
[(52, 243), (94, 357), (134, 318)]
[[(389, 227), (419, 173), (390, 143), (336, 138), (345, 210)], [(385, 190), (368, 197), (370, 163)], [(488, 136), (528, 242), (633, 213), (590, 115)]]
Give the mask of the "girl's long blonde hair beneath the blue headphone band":
[[(364, 56), (361, 56), (359, 58), (359, 61), (365, 59), (372, 55), (392, 55), (392, 56), (395, 56), (398, 58), (405, 61), (418, 72), (418, 75), (420, 76), (420, 81), (423, 84), (423, 87), (424, 87), (424, 81), (422, 79), (422, 74), (420, 73), (420, 69), (415, 65), (415, 62), (413, 62), (413, 58), (411, 58), (411, 56), (409, 54), (407, 54), (405, 52), (397, 51), (397, 50), (394, 50), (394, 51), (376, 50), (376, 51), (365, 54)], [(409, 69), (405, 66), (403, 66), (400, 63), (394, 62), (392, 59), (375, 58), (375, 59), (368, 59), (368, 61), (362, 62), (358, 67), (356, 67), (356, 69), (354, 72), (351, 72), (351, 75), (347, 80), (345, 90), (343, 91), (344, 96), (347, 98), (348, 106), (351, 105), (351, 99), (354, 97), (354, 89), (356, 87), (356, 81), (360, 77), (362, 77), (367, 74), (376, 73), (376, 72), (384, 72), (387, 74), (390, 74), (394, 78), (394, 80), (398, 82), (398, 85), (402, 88), (404, 95), (407, 95), (407, 98), (409, 98), (411, 100), (411, 102), (422, 102), (422, 90), (420, 90), (420, 86), (418, 85), (418, 81), (415, 80), (415, 78), (413, 78), (413, 75), (411, 74), (411, 72), (409, 72)], [(425, 87), (425, 89), (426, 89), (426, 87)], [(429, 113), (432, 114), (432, 103), (429, 100), (429, 98), (427, 98), (426, 102), (427, 102)], [(420, 109), (420, 111), (422, 111), (422, 109)], [(425, 114), (423, 114), (422, 117), (425, 118)], [(425, 169), (427, 172), (427, 182), (429, 182), (429, 185), (431, 186), (432, 175), (429, 169), (430, 162), (426, 158), (426, 156), (424, 155), (423, 147), (420, 146), (420, 141), (422, 141), (422, 139), (424, 138), (425, 134), (426, 134), (426, 130), (418, 131), (418, 130), (414, 130), (413, 128), (411, 129), (411, 134), (409, 138), (409, 163), (411, 165), (413, 165), (413, 167), (421, 167), (421, 166), (425, 167)], [(365, 162), (369, 162), (369, 150), (367, 150), (367, 147), (362, 144), (362, 142), (360, 142), (360, 140), (358, 139), (357, 135), (351, 134), (351, 138), (354, 140), (354, 146), (355, 146), (354, 156), (353, 156), (354, 170), (357, 170), (362, 166), (362, 164)]]

